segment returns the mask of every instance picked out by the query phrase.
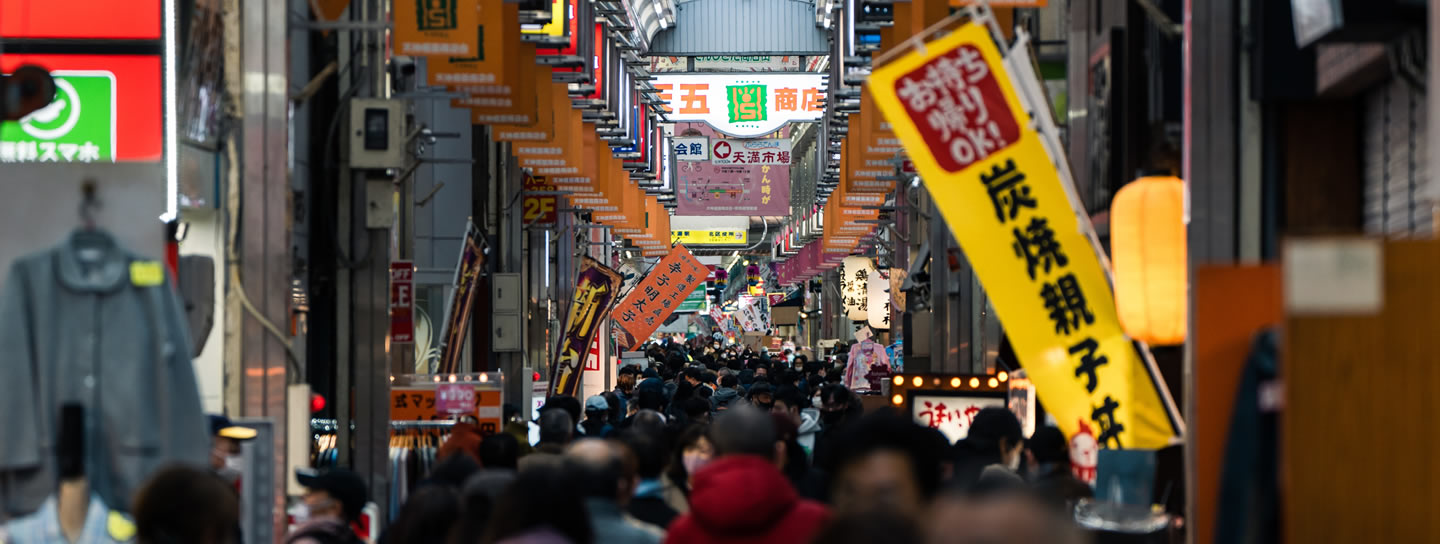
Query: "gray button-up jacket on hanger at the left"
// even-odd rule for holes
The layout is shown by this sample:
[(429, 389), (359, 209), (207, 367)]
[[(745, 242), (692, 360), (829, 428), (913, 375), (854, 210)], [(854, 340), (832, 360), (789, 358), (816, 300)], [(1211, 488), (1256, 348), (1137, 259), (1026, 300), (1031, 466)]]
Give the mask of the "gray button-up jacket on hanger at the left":
[(114, 509), (163, 463), (206, 466), (189, 345), (164, 265), (108, 235), (16, 260), (0, 295), (0, 518), (56, 492), (63, 403), (85, 407), (85, 475)]

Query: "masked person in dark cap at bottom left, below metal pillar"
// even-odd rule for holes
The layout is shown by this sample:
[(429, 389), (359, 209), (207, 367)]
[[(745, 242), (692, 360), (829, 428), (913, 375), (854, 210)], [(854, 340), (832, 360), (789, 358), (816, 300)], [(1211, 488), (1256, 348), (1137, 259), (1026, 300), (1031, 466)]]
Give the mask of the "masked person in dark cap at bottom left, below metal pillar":
[(369, 501), (360, 475), (346, 469), (298, 469), (295, 478), (305, 486), (305, 495), (289, 511), (295, 518), (295, 530), (285, 538), (285, 544), (360, 543), (350, 527), (360, 520), (360, 511)]

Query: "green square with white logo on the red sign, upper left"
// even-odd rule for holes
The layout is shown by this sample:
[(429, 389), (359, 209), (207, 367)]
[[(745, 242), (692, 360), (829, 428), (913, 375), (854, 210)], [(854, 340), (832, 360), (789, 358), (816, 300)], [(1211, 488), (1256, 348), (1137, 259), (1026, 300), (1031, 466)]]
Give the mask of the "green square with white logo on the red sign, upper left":
[(0, 163), (115, 160), (115, 75), (55, 71), (55, 102), (0, 128)]

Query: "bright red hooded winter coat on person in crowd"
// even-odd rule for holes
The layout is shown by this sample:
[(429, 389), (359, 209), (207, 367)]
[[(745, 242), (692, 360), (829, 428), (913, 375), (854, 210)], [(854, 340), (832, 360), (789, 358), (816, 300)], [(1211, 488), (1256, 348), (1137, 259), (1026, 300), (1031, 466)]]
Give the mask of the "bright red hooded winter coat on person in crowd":
[(829, 509), (799, 498), (768, 459), (736, 455), (694, 475), (690, 512), (670, 525), (665, 543), (808, 543), (828, 520)]

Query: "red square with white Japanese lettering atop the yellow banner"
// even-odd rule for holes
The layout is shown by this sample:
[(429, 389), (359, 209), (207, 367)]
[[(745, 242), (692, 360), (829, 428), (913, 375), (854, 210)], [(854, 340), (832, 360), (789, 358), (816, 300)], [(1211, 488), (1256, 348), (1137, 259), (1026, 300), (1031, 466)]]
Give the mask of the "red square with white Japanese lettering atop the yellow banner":
[(1020, 124), (995, 73), (972, 45), (962, 45), (896, 79), (896, 95), (930, 154), (950, 173), (1020, 141)]

